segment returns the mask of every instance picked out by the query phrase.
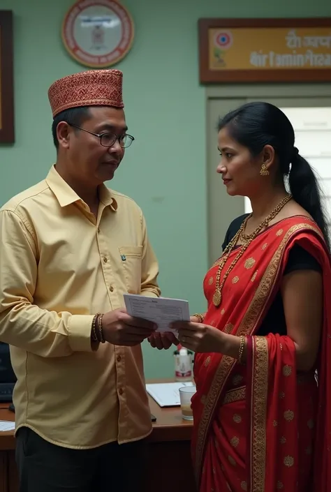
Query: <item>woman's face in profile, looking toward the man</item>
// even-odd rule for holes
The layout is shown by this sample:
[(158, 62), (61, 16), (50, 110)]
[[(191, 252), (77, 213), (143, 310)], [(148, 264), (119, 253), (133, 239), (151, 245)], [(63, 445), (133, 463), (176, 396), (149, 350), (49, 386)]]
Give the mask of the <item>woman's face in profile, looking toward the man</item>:
[(242, 147), (230, 137), (227, 128), (219, 132), (218, 148), (221, 162), (217, 172), (222, 175), (228, 194), (247, 197), (256, 195), (264, 184), (260, 175), (263, 155), (251, 156), (247, 147)]

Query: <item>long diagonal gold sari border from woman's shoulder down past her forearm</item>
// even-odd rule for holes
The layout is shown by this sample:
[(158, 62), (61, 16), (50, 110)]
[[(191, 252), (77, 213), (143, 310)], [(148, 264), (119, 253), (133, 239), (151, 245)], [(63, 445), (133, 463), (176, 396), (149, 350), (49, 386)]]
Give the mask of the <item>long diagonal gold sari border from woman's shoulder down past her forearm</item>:
[[(280, 260), (282, 258), (282, 255), (284, 254), (286, 244), (288, 240), (293, 237), (293, 234), (296, 234), (297, 232), (304, 229), (314, 231), (319, 237), (322, 237), (323, 239), (323, 235), (318, 230), (318, 228), (309, 223), (295, 224), (286, 232), (286, 234), (284, 234), (284, 237), (281, 240), (281, 244), (277, 248), (277, 251), (274, 253), (270, 264), (267, 266), (267, 269), (265, 270), (265, 273), (260, 280), (251, 304), (247, 309), (242, 322), (240, 323), (240, 327), (237, 329), (237, 336), (248, 336), (253, 333), (253, 330), (260, 320), (260, 317), (263, 315), (264, 307), (267, 305), (267, 301), (272, 293), (272, 288), (277, 280), (279, 267), (281, 264)], [(233, 368), (233, 366), (235, 366), (235, 362), (235, 359), (232, 359), (227, 355), (223, 355), (223, 357), (221, 358), (219, 367), (216, 370), (212, 385), (206, 398), (206, 403), (203, 408), (203, 415), (198, 424), (195, 465), (196, 480), (198, 484), (200, 484), (200, 475), (203, 465), (203, 451), (205, 449), (205, 440), (207, 438), (209, 424), (214, 415), (214, 410), (223, 391), (223, 387), (226, 384), (226, 380), (230, 375), (231, 369)]]

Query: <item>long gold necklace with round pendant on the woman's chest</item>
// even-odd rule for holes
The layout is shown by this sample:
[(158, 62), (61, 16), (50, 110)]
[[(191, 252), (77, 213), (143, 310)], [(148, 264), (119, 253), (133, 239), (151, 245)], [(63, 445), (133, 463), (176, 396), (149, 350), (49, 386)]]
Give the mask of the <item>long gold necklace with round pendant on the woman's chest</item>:
[[(251, 241), (253, 241), (253, 239), (255, 239), (256, 236), (263, 229), (265, 229), (267, 227), (267, 225), (270, 223), (270, 221), (272, 221), (272, 219), (274, 219), (277, 216), (277, 214), (279, 214), (281, 209), (286, 205), (287, 202), (290, 201), (291, 198), (292, 198), (292, 195), (290, 195), (290, 193), (288, 193), (286, 195), (286, 197), (284, 197), (283, 200), (281, 200), (281, 202), (279, 202), (277, 207), (275, 207), (274, 210), (272, 210), (272, 212), (260, 223), (260, 225), (258, 225), (256, 230), (254, 230), (251, 234), (244, 234), (244, 230), (245, 230), (247, 222), (251, 218), (252, 214), (249, 214), (249, 216), (244, 220), (244, 222), (240, 226), (240, 230), (238, 230), (237, 234), (235, 234), (235, 237), (233, 237), (232, 241), (230, 241), (228, 246), (226, 246), (226, 249), (223, 253), (221, 263), (219, 264), (219, 269), (217, 270), (217, 273), (216, 273), (216, 288), (215, 288), (215, 292), (214, 292), (214, 295), (212, 298), (214, 306), (219, 307), (221, 305), (221, 301), (222, 301), (221, 292), (223, 289), (223, 285), (226, 282), (226, 279), (228, 278), (228, 276), (230, 275), (230, 272), (234, 269), (237, 262), (240, 260), (240, 258), (242, 258), (242, 255), (244, 254), (244, 252), (247, 250), (247, 248), (251, 244)], [(245, 242), (240, 247), (240, 251), (237, 253), (237, 256), (235, 257), (233, 262), (230, 264), (230, 267), (228, 267), (228, 270), (224, 274), (223, 280), (222, 280), (221, 285), (220, 285), (219, 281), (221, 278), (221, 271), (223, 270), (224, 265), (228, 261), (230, 253), (233, 251), (233, 248), (237, 244), (237, 241), (239, 238), (242, 238)]]

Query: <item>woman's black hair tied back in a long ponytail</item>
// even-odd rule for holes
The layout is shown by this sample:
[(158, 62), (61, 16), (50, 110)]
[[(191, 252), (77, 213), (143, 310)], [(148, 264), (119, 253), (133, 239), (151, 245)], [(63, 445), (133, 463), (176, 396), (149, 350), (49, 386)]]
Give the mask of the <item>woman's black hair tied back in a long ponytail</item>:
[(330, 246), (318, 180), (309, 163), (294, 147), (293, 126), (284, 112), (269, 103), (247, 103), (219, 120), (219, 131), (225, 127), (230, 137), (247, 147), (252, 156), (258, 156), (265, 145), (274, 148), (279, 171), (283, 177), (288, 175), (293, 199), (314, 218)]

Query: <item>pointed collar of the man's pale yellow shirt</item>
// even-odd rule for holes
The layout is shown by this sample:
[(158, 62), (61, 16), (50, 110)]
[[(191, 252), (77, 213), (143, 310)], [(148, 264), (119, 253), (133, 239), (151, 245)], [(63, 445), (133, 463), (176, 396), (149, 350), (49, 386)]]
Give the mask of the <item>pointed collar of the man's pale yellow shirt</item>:
[[(83, 202), (78, 194), (73, 191), (73, 188), (71, 188), (71, 186), (69, 186), (68, 183), (59, 175), (54, 165), (52, 165), (50, 172), (47, 175), (46, 183), (57, 197), (57, 201), (61, 207), (67, 207), (67, 205), (78, 201)], [(117, 211), (117, 201), (114, 197), (112, 197), (111, 191), (104, 184), (99, 186), (99, 197), (105, 207), (110, 207), (112, 211)]]

